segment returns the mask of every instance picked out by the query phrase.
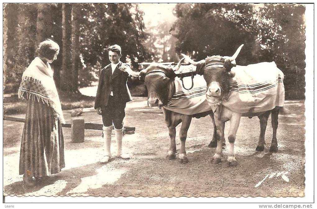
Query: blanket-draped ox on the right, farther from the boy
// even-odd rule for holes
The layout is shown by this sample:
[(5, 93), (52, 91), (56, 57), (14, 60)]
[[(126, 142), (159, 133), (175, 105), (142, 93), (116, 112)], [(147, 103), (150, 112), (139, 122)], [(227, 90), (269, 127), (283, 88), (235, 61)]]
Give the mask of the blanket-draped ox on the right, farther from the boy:
[[(241, 117), (260, 119), (260, 135), (256, 151), (264, 150), (264, 136), (271, 115), (273, 137), (270, 152), (277, 152), (276, 132), (278, 114), (284, 105), (284, 74), (274, 62), (262, 62), (248, 66), (236, 66), (235, 60), (243, 44), (231, 56), (214, 55), (205, 60), (195, 62), (182, 54), (185, 60), (193, 65), (204, 64), (200, 73), (207, 83), (206, 99), (213, 108), (217, 127), (217, 149), (211, 159), (218, 164), (222, 158), (222, 142), (224, 140), (225, 122), (230, 121), (228, 131), (227, 166), (237, 165), (234, 151), (236, 133)], [(224, 107), (224, 108), (223, 108)]]

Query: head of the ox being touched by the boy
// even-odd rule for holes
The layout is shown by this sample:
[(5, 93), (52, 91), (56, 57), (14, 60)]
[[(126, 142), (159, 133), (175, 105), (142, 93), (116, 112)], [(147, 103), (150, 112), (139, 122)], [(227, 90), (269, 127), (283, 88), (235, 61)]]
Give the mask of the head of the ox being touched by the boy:
[(150, 107), (159, 107), (166, 105), (168, 101), (168, 85), (176, 74), (174, 71), (178, 70), (181, 59), (175, 67), (165, 66), (159, 63), (152, 63), (146, 69), (140, 71), (139, 79), (144, 80), (147, 88), (148, 98), (147, 103)]

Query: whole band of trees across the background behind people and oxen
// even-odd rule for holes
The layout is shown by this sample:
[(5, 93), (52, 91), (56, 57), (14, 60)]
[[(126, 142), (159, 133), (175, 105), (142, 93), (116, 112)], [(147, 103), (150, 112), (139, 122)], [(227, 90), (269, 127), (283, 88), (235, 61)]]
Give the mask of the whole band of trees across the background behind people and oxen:
[[(106, 48), (113, 44), (122, 47), (121, 60), (137, 68), (142, 61), (178, 61), (179, 53), (197, 60), (230, 56), (243, 43), (238, 64), (275, 61), (285, 74), (287, 94), (303, 98), (304, 12), (299, 4), (179, 3), (174, 23), (162, 17), (145, 28), (136, 3), (9, 3), (4, 7), (5, 91), (16, 92), (36, 45), (50, 38), (61, 47), (52, 68), (63, 90), (75, 92), (96, 81), (109, 63)], [(68, 38), (63, 39), (63, 30)]]

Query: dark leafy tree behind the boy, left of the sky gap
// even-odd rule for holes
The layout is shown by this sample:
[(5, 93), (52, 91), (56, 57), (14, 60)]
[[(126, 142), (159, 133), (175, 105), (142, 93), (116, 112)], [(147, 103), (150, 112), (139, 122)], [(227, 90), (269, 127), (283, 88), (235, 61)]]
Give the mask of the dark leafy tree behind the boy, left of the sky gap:
[(81, 4), (81, 54), (91, 65), (107, 64), (106, 48), (118, 44), (122, 60), (130, 58), (134, 66), (148, 56), (142, 43), (146, 40), (143, 12), (137, 4)]

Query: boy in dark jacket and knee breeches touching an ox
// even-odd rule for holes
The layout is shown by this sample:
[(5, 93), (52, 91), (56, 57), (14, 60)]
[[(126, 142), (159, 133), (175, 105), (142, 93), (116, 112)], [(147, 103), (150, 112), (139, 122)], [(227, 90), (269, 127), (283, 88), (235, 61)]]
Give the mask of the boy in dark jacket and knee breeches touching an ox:
[(131, 101), (131, 94), (127, 86), (129, 74), (133, 75), (130, 66), (120, 61), (121, 47), (117, 44), (107, 48), (110, 64), (100, 73), (94, 108), (102, 116), (105, 155), (100, 160), (107, 163), (111, 158), (111, 132), (114, 125), (115, 139), (117, 141), (117, 156), (130, 159), (122, 153), (123, 118), (125, 117), (126, 103)]

